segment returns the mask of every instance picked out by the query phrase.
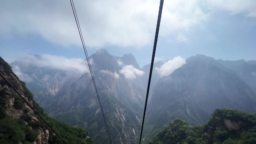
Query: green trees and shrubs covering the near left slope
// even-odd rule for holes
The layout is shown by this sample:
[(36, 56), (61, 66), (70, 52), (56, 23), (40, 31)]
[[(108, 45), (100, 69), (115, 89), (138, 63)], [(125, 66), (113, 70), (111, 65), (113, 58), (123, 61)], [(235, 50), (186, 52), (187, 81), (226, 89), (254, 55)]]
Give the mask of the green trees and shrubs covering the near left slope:
[[(94, 144), (91, 138), (87, 137), (88, 132), (82, 128), (72, 127), (58, 120), (52, 119), (47, 114), (44, 113), (42, 107), (39, 106), (33, 100), (33, 94), (25, 86), (25, 82), (22, 82), (18, 77), (13, 73), (11, 67), (0, 57), (0, 67), (3, 68), (4, 72), (7, 75), (13, 75), (16, 79), (10, 79), (10, 83), (18, 89), (20, 86), (24, 89), (24, 95), (28, 99), (32, 100), (33, 107), (37, 110), (38, 113), (54, 128), (54, 130), (64, 139), (67, 144)], [(7, 85), (3, 80), (0, 81), (0, 85)], [(4, 89), (0, 90), (0, 144), (18, 144), (22, 142), (23, 144), (32, 144), (36, 137), (39, 135), (39, 129), (45, 131), (49, 130), (49, 144), (63, 144), (63, 141), (57, 137), (56, 134), (38, 117), (36, 114), (33, 114), (34, 117), (37, 117), (39, 122), (34, 122), (31, 120), (31, 115), (27, 114), (30, 111), (25, 107), (24, 101), (11, 90), (11, 95), (14, 98), (14, 107), (17, 110), (21, 110), (24, 114), (17, 118), (12, 119), (6, 114), (5, 107), (5, 97), (6, 91)], [(9, 94), (7, 94), (9, 95)], [(25, 125), (28, 123), (28, 125)]]

